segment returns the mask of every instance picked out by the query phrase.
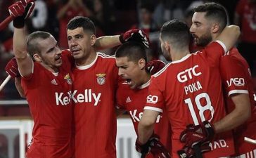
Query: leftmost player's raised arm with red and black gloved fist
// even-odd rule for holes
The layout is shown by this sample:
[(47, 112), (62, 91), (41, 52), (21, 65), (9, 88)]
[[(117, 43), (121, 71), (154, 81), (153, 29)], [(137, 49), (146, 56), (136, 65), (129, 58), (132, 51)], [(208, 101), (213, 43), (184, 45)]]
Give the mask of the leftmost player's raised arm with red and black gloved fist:
[[(25, 6), (24, 6), (25, 4)], [(18, 68), (22, 76), (27, 76), (32, 72), (33, 61), (26, 51), (25, 19), (30, 16), (34, 8), (34, 3), (26, 4), (25, 0), (21, 0), (11, 5), (8, 9), (13, 15), (13, 51), (18, 63)]]

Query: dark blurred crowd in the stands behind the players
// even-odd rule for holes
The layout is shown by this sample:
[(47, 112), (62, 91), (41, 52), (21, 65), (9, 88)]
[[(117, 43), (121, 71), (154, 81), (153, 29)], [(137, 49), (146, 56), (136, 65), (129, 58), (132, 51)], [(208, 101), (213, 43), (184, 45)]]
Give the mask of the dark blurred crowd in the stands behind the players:
[[(8, 17), (8, 6), (14, 0), (0, 1), (0, 21)], [(68, 48), (66, 25), (75, 15), (89, 17), (96, 25), (96, 37), (114, 35), (127, 29), (143, 29), (151, 41), (149, 59), (164, 60), (158, 43), (163, 22), (177, 18), (191, 26), (193, 7), (205, 1), (192, 0), (37, 0), (34, 13), (27, 22), (27, 32), (43, 30), (50, 32), (59, 41), (60, 48)], [(241, 27), (238, 49), (248, 60), (252, 74), (255, 74), (256, 59), (256, 0), (215, 1), (226, 7), (229, 24)], [(0, 31), (0, 81), (7, 77), (4, 67), (13, 57), (13, 27), (8, 25)], [(113, 55), (115, 48), (103, 50)], [(0, 93), (1, 100), (20, 99), (13, 81)], [(0, 105), (1, 106), (1, 105)]]

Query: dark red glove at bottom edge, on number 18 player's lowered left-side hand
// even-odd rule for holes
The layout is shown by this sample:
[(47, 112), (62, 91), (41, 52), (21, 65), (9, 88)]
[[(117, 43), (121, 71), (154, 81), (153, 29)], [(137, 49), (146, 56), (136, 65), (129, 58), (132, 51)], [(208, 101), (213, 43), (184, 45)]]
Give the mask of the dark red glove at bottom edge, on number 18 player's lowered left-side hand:
[(136, 140), (136, 150), (137, 152), (141, 152), (141, 157), (144, 157), (146, 154), (151, 152), (155, 158), (169, 158), (169, 152), (165, 148), (165, 145), (159, 140), (159, 136), (153, 134), (147, 143), (142, 145), (138, 138)]

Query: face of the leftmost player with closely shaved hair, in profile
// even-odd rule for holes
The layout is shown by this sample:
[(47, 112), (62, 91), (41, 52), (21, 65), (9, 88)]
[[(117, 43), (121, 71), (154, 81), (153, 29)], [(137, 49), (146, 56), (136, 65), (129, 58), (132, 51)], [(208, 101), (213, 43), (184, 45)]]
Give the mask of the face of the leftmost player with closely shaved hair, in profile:
[(42, 62), (46, 67), (56, 70), (62, 65), (61, 51), (56, 39), (50, 36), (47, 39), (37, 39), (40, 53), (34, 54), (35, 60)]

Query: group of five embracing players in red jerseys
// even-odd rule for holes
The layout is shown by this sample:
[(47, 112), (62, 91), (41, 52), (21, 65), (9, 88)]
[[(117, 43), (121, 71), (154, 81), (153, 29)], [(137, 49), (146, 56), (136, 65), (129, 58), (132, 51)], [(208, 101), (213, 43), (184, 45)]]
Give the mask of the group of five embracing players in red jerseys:
[[(96, 39), (94, 23), (81, 16), (68, 22), (69, 49), (61, 51), (48, 32), (27, 35), (33, 8), (26, 0), (8, 8), (15, 58), (6, 72), (34, 119), (27, 158), (115, 158), (117, 116), (125, 111), (141, 157), (256, 157), (256, 145), (243, 140), (256, 139), (250, 69), (233, 47), (240, 30), (226, 26), (223, 6), (197, 6), (190, 29), (165, 22), (167, 65), (147, 61), (141, 30)], [(97, 52), (118, 45), (115, 57)]]

